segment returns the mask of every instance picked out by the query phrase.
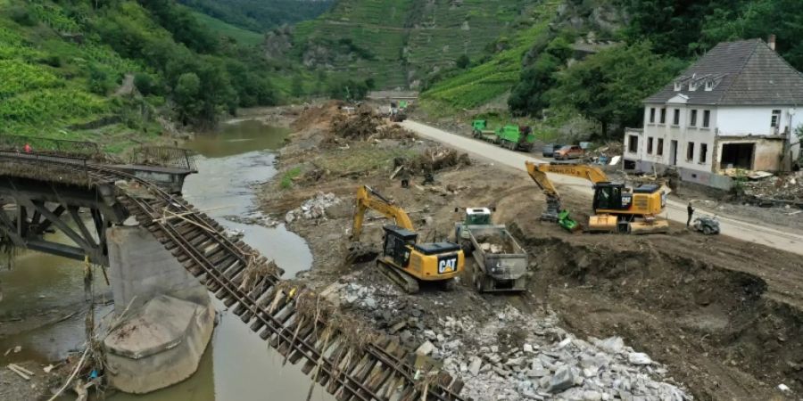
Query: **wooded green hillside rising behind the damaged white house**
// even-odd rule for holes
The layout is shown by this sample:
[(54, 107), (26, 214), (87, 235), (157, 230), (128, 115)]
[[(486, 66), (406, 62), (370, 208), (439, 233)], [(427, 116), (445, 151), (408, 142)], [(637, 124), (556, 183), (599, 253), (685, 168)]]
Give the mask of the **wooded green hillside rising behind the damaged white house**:
[(799, 0), (537, 4), (533, 23), (510, 34), (509, 45), (425, 86), (426, 108), (510, 112), (545, 133), (608, 136), (641, 124), (642, 99), (719, 42), (774, 34), (778, 53), (803, 70)]

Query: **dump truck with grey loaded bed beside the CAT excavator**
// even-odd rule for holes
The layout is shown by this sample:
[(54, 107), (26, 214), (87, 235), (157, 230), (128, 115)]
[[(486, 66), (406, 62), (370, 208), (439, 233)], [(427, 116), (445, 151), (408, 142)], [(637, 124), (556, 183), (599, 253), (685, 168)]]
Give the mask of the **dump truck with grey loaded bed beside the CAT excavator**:
[(455, 223), (455, 239), (474, 257), (476, 291), (525, 291), (527, 252), (505, 225), (491, 223), (491, 209), (466, 209), (463, 221)]

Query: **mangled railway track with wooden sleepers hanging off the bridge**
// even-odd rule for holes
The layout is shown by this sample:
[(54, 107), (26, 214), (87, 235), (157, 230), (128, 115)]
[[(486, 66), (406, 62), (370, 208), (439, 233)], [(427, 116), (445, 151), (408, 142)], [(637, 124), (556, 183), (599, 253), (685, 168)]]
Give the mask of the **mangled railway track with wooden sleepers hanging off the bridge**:
[[(281, 280), (267, 258), (230, 239), (217, 222), (158, 185), (112, 168), (58, 158), (20, 158), (87, 174), (96, 183), (128, 182), (117, 199), (178, 262), (240, 316), (262, 340), (338, 400), (459, 401), (463, 381), (384, 337), (355, 340), (348, 324), (308, 310), (311, 291)], [(303, 292), (302, 292), (303, 291)], [(306, 297), (302, 297), (306, 295)], [(327, 304), (315, 294), (314, 304)], [(311, 391), (311, 389), (310, 389)]]

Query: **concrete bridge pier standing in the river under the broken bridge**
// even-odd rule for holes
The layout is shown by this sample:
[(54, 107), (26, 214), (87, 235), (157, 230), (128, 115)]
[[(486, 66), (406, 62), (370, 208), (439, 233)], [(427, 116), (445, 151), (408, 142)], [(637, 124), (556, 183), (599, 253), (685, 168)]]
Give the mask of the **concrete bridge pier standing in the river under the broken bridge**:
[(106, 239), (114, 315), (125, 313), (104, 340), (110, 384), (142, 394), (184, 381), (214, 329), (206, 288), (142, 226), (112, 226)]

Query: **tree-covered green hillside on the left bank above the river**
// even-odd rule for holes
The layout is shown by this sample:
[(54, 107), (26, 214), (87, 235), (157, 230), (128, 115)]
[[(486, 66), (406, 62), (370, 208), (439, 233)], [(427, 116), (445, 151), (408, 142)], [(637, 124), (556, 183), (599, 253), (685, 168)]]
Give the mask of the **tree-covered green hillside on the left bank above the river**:
[(286, 73), (172, 0), (0, 0), (0, 132), (121, 149), (157, 116), (203, 126), (273, 104)]

